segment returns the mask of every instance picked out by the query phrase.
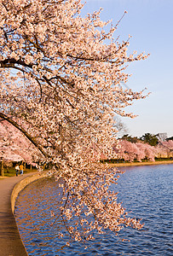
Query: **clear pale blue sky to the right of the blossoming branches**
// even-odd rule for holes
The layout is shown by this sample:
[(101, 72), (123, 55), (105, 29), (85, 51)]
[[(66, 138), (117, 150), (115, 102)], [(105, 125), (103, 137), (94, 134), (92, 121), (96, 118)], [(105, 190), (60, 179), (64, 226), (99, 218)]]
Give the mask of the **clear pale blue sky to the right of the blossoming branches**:
[(132, 136), (144, 133), (167, 132), (173, 136), (173, 0), (86, 0), (82, 15), (103, 8), (101, 20), (113, 24), (124, 16), (114, 35), (120, 40), (130, 38), (130, 53), (145, 51), (150, 56), (145, 61), (130, 64), (132, 74), (127, 85), (132, 90), (147, 87), (150, 96), (137, 101), (128, 111), (136, 119), (123, 118)]

